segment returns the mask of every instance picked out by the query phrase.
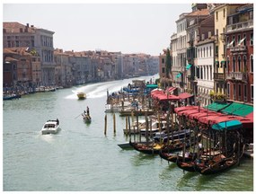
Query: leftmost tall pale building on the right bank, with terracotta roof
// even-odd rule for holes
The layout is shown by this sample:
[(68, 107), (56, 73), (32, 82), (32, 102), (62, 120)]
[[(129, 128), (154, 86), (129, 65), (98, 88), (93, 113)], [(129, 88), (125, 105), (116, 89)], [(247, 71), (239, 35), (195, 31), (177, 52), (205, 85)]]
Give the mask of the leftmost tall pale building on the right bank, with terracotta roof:
[[(208, 15), (209, 12), (207, 10), (207, 4), (192, 4), (192, 12), (181, 13), (179, 19), (176, 21), (177, 33), (174, 33), (171, 37), (173, 76), (172, 86), (178, 88), (178, 93), (193, 93), (196, 91), (196, 86), (194, 81), (191, 79), (190, 72), (190, 68), (194, 66), (194, 56), (191, 56), (190, 58), (188, 57), (195, 52), (192, 42), (195, 40), (194, 37), (198, 36), (199, 31), (196, 31), (195, 28), (191, 27), (189, 31), (187, 31), (187, 28), (207, 18)], [(188, 40), (190, 40), (189, 51), (187, 50)], [(190, 79), (190, 84), (188, 79)]]

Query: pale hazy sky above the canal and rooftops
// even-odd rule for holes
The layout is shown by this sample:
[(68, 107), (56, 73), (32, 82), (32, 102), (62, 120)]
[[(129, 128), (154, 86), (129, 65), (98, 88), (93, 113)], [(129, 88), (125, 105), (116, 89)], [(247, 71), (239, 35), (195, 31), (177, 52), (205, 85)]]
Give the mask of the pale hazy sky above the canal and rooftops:
[(3, 4), (3, 22), (55, 31), (54, 48), (159, 55), (191, 4)]

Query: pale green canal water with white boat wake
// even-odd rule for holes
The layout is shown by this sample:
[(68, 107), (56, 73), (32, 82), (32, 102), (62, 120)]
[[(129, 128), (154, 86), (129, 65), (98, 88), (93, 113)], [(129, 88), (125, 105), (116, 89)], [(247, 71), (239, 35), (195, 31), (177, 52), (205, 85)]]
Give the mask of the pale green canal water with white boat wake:
[[(151, 77), (141, 77), (150, 79)], [(127, 86), (132, 79), (87, 84), (55, 93), (35, 93), (4, 101), (4, 191), (252, 191), (253, 160), (213, 176), (183, 172), (158, 155), (122, 150), (125, 118), (116, 113), (116, 135), (108, 114), (104, 117), (107, 90)], [(75, 93), (84, 91), (79, 101)], [(81, 113), (90, 107), (93, 121), (85, 124)], [(48, 119), (59, 119), (57, 135), (40, 134)]]

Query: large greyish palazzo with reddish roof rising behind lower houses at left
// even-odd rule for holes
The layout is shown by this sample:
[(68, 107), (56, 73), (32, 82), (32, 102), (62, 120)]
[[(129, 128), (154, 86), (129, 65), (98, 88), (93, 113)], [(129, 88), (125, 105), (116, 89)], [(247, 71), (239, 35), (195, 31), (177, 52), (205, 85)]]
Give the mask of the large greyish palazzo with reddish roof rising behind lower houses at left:
[(41, 84), (55, 84), (55, 63), (53, 58), (53, 34), (54, 31), (39, 29), (30, 26), (29, 23), (23, 25), (19, 22), (3, 23), (3, 45), (4, 48), (26, 47), (36, 50), (40, 56), (41, 63)]

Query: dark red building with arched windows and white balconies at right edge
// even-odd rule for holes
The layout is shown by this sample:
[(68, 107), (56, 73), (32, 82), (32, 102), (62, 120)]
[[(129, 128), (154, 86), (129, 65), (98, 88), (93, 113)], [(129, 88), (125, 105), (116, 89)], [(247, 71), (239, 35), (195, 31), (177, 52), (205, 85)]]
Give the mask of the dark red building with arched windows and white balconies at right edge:
[(253, 103), (253, 4), (227, 15), (226, 95), (230, 101)]

